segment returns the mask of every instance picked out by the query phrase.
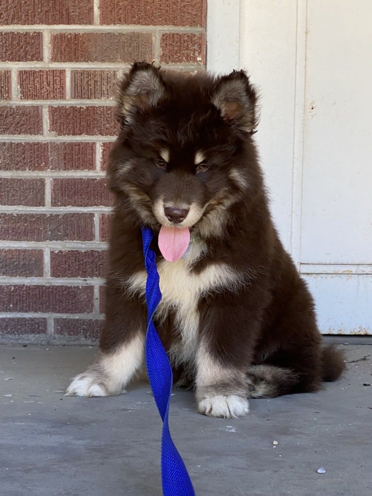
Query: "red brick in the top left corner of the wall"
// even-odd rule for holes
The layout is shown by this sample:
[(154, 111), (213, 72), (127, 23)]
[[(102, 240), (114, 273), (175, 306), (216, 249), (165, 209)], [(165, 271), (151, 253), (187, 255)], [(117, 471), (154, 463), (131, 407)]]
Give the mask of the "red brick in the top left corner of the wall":
[(0, 10), (0, 25), (92, 23), (93, 0), (12, 0)]

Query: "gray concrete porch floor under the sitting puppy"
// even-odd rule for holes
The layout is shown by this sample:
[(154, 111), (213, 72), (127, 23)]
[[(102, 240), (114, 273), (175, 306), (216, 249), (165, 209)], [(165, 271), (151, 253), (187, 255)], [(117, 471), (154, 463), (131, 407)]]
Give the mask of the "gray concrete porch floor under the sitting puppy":
[[(175, 391), (171, 431), (197, 496), (372, 494), (372, 386), (363, 385), (372, 346), (341, 347), (354, 361), (342, 379), (314, 394), (250, 400), (240, 420), (203, 417), (191, 391)], [(161, 495), (161, 423), (148, 384), (115, 398), (63, 396), (95, 352), (0, 346), (1, 496)]]

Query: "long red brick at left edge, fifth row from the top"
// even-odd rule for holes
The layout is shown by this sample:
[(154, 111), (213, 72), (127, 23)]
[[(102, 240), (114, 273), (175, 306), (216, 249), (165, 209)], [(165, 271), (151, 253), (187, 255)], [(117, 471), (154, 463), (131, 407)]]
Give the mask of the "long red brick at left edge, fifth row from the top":
[(95, 162), (95, 143), (0, 142), (0, 171), (87, 171)]

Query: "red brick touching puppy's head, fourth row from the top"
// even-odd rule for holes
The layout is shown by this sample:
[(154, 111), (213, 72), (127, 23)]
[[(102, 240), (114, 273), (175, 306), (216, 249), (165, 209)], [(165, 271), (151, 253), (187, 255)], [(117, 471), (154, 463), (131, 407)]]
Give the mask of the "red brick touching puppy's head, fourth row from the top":
[(49, 130), (59, 135), (115, 134), (114, 107), (50, 107)]

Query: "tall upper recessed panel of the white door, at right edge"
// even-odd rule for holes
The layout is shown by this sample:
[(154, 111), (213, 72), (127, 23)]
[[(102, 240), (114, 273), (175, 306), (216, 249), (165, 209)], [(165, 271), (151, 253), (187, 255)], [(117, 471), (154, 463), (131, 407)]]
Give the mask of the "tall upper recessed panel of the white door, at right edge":
[(372, 262), (372, 8), (308, 2), (301, 262)]

